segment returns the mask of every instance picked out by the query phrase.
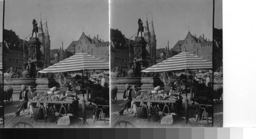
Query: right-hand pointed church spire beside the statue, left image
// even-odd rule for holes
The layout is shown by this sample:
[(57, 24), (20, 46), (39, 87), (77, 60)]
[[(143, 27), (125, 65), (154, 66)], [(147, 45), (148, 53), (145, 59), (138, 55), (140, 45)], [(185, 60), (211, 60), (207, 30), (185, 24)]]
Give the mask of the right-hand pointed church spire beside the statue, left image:
[(47, 18), (46, 18), (46, 29), (45, 29), (45, 61), (46, 66), (50, 66), (50, 52), (51, 52), (51, 40), (48, 32)]

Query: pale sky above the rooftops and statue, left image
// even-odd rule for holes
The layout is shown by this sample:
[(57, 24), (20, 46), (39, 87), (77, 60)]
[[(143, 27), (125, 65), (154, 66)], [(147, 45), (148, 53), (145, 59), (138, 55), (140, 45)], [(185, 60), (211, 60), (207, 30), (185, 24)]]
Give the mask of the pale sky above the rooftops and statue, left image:
[[(82, 31), (91, 38), (109, 40), (109, 2), (106, 0), (8, 0), (5, 2), (5, 29), (15, 31), (20, 39), (32, 33), (32, 20), (46, 22), (51, 49), (67, 48), (72, 40), (79, 40)], [(44, 31), (45, 31), (45, 25)], [(29, 37), (27, 38), (27, 41)]]

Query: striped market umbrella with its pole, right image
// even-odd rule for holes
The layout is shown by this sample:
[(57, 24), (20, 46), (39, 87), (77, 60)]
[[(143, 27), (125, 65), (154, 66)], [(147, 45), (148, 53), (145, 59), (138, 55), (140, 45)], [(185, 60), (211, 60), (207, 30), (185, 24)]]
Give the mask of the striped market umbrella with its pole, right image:
[[(172, 58), (169, 58), (152, 67), (142, 70), (142, 72), (163, 72), (163, 71), (174, 71), (174, 70), (186, 71), (191, 69), (192, 70), (193, 69), (212, 69), (212, 62), (203, 57), (199, 57), (199, 55), (196, 55), (187, 51), (182, 51), (181, 53), (174, 55), (174, 57)], [(185, 100), (185, 113), (186, 113), (186, 118), (185, 118), (184, 124), (189, 122), (187, 89), (186, 89), (186, 100)]]

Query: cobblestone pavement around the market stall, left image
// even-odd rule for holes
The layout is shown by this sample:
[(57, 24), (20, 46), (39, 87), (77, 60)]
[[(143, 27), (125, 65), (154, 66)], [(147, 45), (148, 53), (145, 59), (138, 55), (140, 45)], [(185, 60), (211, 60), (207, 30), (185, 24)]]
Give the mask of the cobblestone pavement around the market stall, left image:
[[(37, 94), (39, 95), (39, 94)], [(15, 112), (18, 108), (18, 103), (19, 103), (19, 94), (15, 93), (13, 94), (13, 102), (11, 104), (7, 104), (5, 102), (5, 128), (11, 128), (15, 123), (20, 122), (20, 121), (25, 121), (30, 123), (33, 127), (35, 128), (98, 128), (98, 127), (104, 127), (108, 128), (110, 127), (110, 119), (106, 118), (107, 122), (106, 124), (104, 123), (103, 120), (100, 120), (99, 122), (95, 122), (93, 124), (93, 110), (86, 108), (86, 118), (88, 124), (82, 124), (81, 118), (82, 117), (82, 110), (78, 111), (79, 116), (76, 116), (74, 121), (70, 123), (70, 125), (63, 126), (63, 125), (57, 125), (55, 123), (50, 123), (49, 120), (47, 120), (47, 123), (45, 123), (45, 120), (34, 120), (34, 118), (30, 118), (29, 111), (27, 112), (27, 109), (25, 109), (25, 113), (23, 110), (20, 111), (20, 115), (18, 117), (15, 116)], [(82, 95), (78, 95), (80, 98), (79, 100), (79, 108), (81, 108), (81, 103), (82, 103)]]

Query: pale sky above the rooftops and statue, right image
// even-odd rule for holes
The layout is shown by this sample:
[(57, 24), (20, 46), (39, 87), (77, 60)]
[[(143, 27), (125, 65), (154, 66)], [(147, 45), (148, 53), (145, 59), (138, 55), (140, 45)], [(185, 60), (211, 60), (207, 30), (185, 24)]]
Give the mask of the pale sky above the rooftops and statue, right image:
[(188, 31), (197, 37), (204, 34), (211, 41), (212, 7), (211, 0), (111, 0), (110, 27), (131, 38), (137, 33), (138, 18), (145, 25), (147, 13), (149, 23), (153, 17), (157, 48), (165, 47), (168, 40), (172, 48)]

